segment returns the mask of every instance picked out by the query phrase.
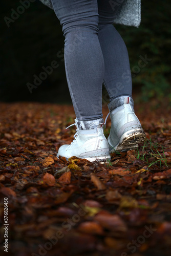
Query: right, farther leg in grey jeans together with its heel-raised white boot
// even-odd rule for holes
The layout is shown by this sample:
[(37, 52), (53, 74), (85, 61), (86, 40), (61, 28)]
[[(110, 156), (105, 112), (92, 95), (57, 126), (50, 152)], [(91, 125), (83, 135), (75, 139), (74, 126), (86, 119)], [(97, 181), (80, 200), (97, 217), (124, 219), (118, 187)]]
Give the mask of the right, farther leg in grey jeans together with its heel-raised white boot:
[(105, 69), (103, 82), (110, 96), (108, 106), (112, 125), (108, 143), (111, 152), (136, 148), (145, 139), (134, 113), (129, 55), (122, 37), (113, 26), (114, 17), (123, 3), (119, 2), (120, 5), (113, 9), (109, 1), (98, 0), (98, 38)]

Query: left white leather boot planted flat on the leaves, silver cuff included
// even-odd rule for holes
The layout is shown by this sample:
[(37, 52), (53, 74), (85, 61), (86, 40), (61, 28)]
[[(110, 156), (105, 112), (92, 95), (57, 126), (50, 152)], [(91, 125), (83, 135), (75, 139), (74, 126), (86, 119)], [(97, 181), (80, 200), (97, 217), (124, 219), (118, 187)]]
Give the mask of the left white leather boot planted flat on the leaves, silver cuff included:
[(72, 125), (77, 127), (75, 139), (70, 145), (60, 146), (57, 157), (66, 157), (68, 160), (68, 158), (76, 156), (91, 162), (105, 162), (111, 159), (108, 141), (103, 134), (104, 120), (102, 118), (92, 121), (75, 119), (75, 123)]

